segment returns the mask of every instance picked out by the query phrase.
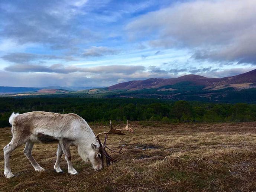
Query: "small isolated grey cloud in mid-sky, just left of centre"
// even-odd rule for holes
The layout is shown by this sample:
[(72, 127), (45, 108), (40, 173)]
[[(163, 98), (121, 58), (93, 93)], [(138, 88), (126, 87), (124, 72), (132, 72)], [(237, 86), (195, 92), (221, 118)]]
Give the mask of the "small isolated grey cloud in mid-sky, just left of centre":
[(85, 57), (100, 57), (106, 55), (116, 55), (119, 53), (118, 50), (111, 49), (104, 46), (92, 46), (90, 49), (85, 49), (85, 52), (82, 54)]

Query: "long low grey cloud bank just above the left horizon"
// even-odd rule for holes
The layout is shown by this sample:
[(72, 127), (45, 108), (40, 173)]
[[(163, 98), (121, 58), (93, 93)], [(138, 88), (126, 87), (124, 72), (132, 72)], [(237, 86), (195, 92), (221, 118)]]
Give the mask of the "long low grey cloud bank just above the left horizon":
[[(29, 73), (28, 73), (29, 72)], [(35, 73), (36, 72), (36, 73)], [(58, 73), (59, 72), (59, 73)], [(167, 76), (163, 74), (162, 76)], [(155, 77), (143, 66), (102, 66), (92, 68), (64, 68), (61, 64), (46, 66), (12, 66), (0, 71), (4, 86), (110, 86), (124, 81)]]

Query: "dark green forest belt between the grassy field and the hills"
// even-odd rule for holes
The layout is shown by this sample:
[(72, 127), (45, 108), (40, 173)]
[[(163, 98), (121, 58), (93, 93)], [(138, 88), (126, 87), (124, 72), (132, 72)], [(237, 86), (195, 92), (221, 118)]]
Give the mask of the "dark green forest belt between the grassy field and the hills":
[(0, 127), (8, 127), (12, 112), (75, 113), (87, 122), (162, 121), (223, 123), (256, 121), (256, 104), (171, 101), (142, 98), (0, 98)]

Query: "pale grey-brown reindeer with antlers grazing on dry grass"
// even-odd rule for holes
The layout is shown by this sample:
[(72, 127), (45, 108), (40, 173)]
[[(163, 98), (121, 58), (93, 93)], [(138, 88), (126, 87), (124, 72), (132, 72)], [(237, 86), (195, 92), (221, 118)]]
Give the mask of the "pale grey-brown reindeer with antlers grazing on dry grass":
[[(6, 178), (14, 176), (10, 169), (10, 153), (22, 144), (26, 143), (23, 152), (34, 169), (42, 172), (45, 169), (38, 165), (32, 156), (34, 143), (58, 143), (54, 170), (57, 173), (63, 172), (59, 167), (59, 163), (64, 153), (68, 164), (68, 173), (75, 175), (78, 172), (72, 166), (69, 146), (76, 146), (82, 160), (85, 162), (90, 160), (94, 170), (98, 172), (104, 168), (104, 155), (106, 156), (107, 165), (115, 162), (106, 151), (107, 148), (117, 152), (106, 146), (108, 134), (123, 135), (124, 133), (121, 131), (134, 133), (132, 128), (128, 127), (128, 121), (127, 126), (121, 129), (117, 129), (117, 127), (113, 129), (110, 121), (110, 131), (104, 131), (96, 136), (87, 122), (77, 114), (58, 114), (43, 111), (23, 114), (13, 113), (9, 118), (9, 122), (12, 125), (13, 137), (10, 143), (4, 147), (4, 176)], [(106, 135), (104, 144), (101, 143), (99, 137), (102, 134)], [(117, 153), (121, 153), (121, 150)]]

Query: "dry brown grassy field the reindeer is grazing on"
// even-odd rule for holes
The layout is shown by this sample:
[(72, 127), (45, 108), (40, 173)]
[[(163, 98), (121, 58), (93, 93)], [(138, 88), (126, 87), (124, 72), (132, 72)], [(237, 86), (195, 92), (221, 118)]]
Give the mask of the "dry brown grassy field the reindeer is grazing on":
[[(80, 174), (55, 173), (57, 144), (35, 144), (33, 156), (45, 172), (35, 172), (23, 146), (11, 154), (15, 178), (3, 177), (0, 191), (256, 191), (256, 122), (226, 124), (159, 124), (132, 122), (136, 134), (109, 136), (108, 145), (123, 154), (101, 172), (82, 162), (71, 147), (73, 166)], [(103, 125), (91, 126), (95, 133)], [(0, 148), (11, 140), (10, 128), (0, 128)]]

